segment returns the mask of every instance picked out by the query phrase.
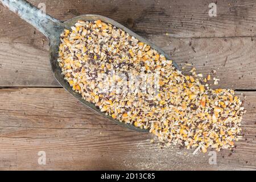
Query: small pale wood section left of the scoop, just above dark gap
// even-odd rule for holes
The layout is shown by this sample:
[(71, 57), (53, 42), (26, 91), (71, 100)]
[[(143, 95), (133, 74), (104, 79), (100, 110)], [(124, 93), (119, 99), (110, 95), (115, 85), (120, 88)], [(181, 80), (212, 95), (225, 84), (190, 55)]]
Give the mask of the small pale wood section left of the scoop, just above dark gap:
[(0, 43), (1, 86), (59, 85), (49, 65), (48, 52), (33, 45)]

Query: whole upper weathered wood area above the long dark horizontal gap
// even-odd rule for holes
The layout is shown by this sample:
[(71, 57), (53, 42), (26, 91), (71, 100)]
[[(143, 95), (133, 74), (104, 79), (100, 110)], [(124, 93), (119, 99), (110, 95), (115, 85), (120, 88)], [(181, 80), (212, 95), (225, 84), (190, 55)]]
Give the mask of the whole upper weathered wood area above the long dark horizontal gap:
[[(221, 88), (256, 89), (254, 1), (217, 1), (213, 18), (203, 0), (30, 2), (45, 3), (47, 13), (61, 20), (89, 13), (108, 16), (163, 48), (180, 65), (188, 61), (205, 75), (216, 69)], [(49, 67), (46, 38), (0, 8), (0, 86), (59, 86)]]

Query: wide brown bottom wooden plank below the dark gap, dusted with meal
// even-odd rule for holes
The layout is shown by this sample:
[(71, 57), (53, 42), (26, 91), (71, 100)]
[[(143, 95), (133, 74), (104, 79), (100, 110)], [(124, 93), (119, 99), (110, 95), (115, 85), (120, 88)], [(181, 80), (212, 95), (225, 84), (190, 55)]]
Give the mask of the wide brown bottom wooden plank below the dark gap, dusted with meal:
[(233, 152), (217, 152), (214, 165), (208, 154), (160, 150), (151, 134), (114, 125), (64, 89), (0, 89), (0, 169), (256, 169), (256, 92), (246, 95), (245, 137)]

